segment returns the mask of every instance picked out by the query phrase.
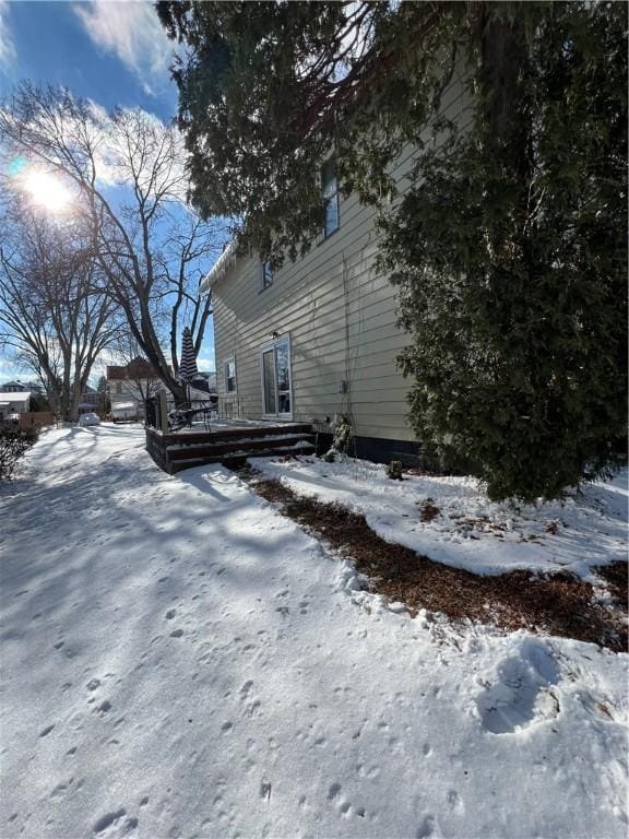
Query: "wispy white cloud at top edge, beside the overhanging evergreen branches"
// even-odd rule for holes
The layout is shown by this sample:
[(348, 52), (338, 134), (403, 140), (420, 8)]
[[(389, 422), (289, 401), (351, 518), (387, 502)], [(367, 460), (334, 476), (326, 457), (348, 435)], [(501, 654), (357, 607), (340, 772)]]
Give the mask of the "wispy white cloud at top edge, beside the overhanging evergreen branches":
[(154, 95), (156, 87), (168, 83), (174, 43), (159, 23), (153, 2), (88, 0), (72, 8), (92, 40), (137, 73), (145, 93)]

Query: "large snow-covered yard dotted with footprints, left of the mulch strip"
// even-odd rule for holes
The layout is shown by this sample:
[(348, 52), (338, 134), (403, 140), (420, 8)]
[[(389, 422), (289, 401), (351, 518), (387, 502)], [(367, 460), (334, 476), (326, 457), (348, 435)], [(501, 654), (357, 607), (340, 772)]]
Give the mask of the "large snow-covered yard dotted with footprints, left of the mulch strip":
[(138, 428), (49, 432), (0, 517), (2, 839), (626, 836), (626, 655), (394, 614)]

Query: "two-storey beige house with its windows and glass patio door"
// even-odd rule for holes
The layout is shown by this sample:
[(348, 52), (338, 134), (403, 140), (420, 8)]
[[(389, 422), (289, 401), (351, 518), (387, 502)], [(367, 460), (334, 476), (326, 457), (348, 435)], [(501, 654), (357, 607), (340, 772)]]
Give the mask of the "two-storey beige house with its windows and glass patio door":
[[(463, 87), (443, 97), (464, 125)], [(393, 176), (408, 187), (414, 150)], [(212, 289), (217, 392), (244, 415), (299, 422), (320, 430), (346, 415), (352, 453), (385, 461), (419, 453), (406, 421), (410, 382), (395, 364), (408, 335), (397, 328), (396, 291), (378, 273), (376, 213), (356, 196), (343, 200), (333, 166), (321, 173), (325, 229), (310, 251), (276, 272), (233, 243), (203, 280)]]

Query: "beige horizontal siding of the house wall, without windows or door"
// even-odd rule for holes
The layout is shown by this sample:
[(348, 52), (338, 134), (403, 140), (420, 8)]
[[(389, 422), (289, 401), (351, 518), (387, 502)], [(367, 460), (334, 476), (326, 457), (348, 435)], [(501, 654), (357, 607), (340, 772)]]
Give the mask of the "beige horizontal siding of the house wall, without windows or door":
[[(447, 97), (451, 118), (464, 114), (460, 83)], [(412, 150), (394, 169), (399, 188)], [(357, 435), (412, 440), (405, 415), (408, 381), (395, 365), (408, 336), (396, 327), (396, 292), (375, 269), (375, 212), (356, 197), (341, 202), (341, 226), (261, 291), (260, 262), (240, 258), (213, 287), (217, 389), (236, 358), (237, 395), (248, 416), (262, 415), (260, 350), (272, 333), (289, 333), (293, 417), (352, 416)], [(348, 392), (340, 385), (348, 381)]]

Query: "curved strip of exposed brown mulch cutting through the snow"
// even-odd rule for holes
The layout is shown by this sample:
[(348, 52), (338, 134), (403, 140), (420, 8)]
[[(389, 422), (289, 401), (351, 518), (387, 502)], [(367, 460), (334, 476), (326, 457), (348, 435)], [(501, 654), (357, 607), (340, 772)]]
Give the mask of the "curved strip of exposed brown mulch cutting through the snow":
[[(627, 649), (627, 626), (621, 605), (609, 610), (593, 601), (593, 589), (568, 574), (537, 577), (512, 571), (482, 577), (451, 568), (385, 542), (365, 521), (339, 504), (297, 496), (275, 480), (260, 480), (252, 470), (240, 475), (263, 498), (277, 504), (335, 551), (353, 559), (369, 579), (369, 589), (390, 601), (401, 601), (411, 614), (419, 608), (442, 612), (453, 619), (468, 618), (506, 629), (539, 629), (553, 635), (591, 641), (615, 651)], [(598, 568), (613, 594), (627, 587), (624, 563)], [(622, 582), (624, 581), (624, 582)]]

